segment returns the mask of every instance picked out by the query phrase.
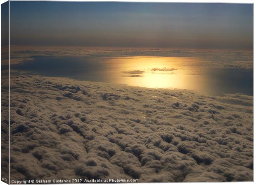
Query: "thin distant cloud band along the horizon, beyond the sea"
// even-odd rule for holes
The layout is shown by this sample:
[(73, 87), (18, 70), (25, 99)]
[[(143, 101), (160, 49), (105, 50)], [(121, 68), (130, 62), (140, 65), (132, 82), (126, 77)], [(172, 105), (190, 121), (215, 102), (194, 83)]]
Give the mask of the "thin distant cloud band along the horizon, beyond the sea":
[[(2, 64), (8, 64), (8, 50), (3, 50)], [(192, 49), (137, 49), (137, 48), (88, 48), (88, 47), (43, 47), (11, 46), (11, 65), (33, 62), (36, 56), (69, 57), (194, 57), (201, 58), (200, 65), (209, 65), (218, 69), (252, 69), (253, 52), (236, 50), (192, 50)]]

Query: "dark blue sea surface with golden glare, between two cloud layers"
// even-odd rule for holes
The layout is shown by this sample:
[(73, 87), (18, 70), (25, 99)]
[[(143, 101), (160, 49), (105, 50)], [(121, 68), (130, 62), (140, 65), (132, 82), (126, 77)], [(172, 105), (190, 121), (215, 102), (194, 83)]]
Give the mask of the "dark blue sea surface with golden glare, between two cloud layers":
[(188, 57), (50, 57), (11, 65), (42, 76), (121, 83), (147, 88), (179, 88), (198, 93), (253, 95), (253, 69), (222, 69)]

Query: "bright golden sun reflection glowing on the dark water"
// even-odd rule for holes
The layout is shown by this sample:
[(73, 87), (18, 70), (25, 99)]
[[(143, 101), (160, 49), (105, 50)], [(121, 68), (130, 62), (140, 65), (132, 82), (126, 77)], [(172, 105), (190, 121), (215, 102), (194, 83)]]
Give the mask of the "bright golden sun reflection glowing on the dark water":
[(192, 90), (206, 86), (207, 69), (200, 58), (124, 57), (112, 58), (110, 62), (119, 75), (115, 83)]

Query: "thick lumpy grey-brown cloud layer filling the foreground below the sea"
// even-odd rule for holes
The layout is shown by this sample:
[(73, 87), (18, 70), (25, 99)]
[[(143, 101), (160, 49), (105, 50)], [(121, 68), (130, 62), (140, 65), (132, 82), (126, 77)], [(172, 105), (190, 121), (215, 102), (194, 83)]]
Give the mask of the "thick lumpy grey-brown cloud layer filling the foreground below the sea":
[(14, 180), (253, 180), (251, 96), (12, 76), (10, 104)]

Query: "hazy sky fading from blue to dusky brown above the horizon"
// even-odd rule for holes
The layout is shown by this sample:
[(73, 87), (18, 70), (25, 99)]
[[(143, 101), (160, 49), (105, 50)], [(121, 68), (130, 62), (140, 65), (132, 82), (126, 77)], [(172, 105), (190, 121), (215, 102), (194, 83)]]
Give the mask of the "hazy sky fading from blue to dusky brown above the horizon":
[(252, 4), (11, 1), (11, 44), (252, 49)]

